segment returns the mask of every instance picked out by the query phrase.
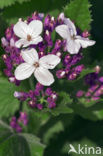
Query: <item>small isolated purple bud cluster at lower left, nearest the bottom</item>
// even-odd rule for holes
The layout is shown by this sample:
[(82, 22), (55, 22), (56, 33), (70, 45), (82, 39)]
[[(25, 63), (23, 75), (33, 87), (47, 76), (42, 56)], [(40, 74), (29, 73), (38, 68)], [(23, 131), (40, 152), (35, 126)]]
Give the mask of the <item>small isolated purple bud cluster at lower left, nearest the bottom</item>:
[(20, 112), (19, 118), (15, 116), (12, 117), (10, 121), (10, 126), (18, 133), (22, 132), (22, 126), (28, 124), (28, 116), (25, 112)]

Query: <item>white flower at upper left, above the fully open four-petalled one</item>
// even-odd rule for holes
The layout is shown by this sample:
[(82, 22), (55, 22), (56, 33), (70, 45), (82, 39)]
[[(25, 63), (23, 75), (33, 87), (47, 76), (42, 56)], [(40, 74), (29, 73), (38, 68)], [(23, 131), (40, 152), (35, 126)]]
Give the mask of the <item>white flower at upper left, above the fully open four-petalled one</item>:
[(27, 47), (32, 44), (38, 44), (43, 39), (40, 36), (43, 29), (43, 24), (39, 20), (33, 20), (29, 24), (19, 20), (16, 25), (14, 25), (14, 33), (20, 39), (15, 43), (17, 48), (21, 46)]

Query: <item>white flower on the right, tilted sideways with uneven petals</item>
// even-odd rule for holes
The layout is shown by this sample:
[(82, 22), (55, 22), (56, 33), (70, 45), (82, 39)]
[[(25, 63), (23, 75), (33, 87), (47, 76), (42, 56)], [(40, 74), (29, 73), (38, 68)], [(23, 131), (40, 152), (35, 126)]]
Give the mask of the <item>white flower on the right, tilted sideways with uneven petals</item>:
[(69, 18), (65, 18), (64, 23), (56, 27), (56, 32), (66, 40), (66, 49), (70, 54), (77, 54), (81, 47), (95, 44), (95, 41), (77, 35), (76, 27)]

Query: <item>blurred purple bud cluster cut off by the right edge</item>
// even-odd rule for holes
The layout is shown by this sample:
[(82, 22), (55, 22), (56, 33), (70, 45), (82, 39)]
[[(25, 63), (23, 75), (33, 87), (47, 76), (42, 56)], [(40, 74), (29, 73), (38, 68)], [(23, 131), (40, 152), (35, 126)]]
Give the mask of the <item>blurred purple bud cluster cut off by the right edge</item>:
[(86, 92), (79, 90), (76, 94), (78, 98), (84, 97), (90, 102), (91, 100), (96, 101), (103, 97), (103, 76), (99, 76), (99, 66), (95, 70), (96, 72), (88, 74), (85, 77), (85, 83), (89, 85), (89, 89)]

